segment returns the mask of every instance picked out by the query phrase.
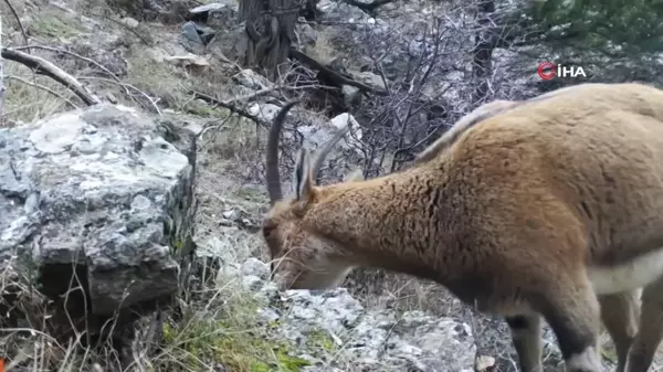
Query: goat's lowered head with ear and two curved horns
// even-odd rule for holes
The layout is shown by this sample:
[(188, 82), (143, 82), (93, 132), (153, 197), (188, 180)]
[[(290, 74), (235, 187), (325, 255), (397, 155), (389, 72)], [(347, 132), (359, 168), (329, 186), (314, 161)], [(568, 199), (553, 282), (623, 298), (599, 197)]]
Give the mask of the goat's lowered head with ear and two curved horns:
[[(326, 289), (338, 286), (352, 269), (341, 254), (343, 247), (306, 228), (304, 219), (327, 191), (315, 184), (322, 162), (347, 130), (339, 130), (317, 156), (299, 150), (294, 171), (294, 194), (283, 198), (278, 176), (278, 138), (287, 111), (297, 102), (286, 104), (270, 130), (266, 155), (266, 181), (271, 210), (263, 222), (263, 237), (270, 249), (272, 275), (282, 289)], [(361, 179), (352, 173), (346, 181)]]

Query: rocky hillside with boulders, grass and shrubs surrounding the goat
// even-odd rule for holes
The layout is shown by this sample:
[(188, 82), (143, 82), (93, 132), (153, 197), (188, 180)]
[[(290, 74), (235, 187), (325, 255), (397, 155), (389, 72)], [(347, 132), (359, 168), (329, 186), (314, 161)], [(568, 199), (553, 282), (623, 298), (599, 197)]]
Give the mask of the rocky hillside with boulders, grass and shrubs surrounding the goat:
[[(481, 20), (462, 2), (349, 3), (320, 0), (317, 21), (295, 29), (303, 53), (344, 72), (328, 87), (311, 64), (276, 81), (242, 66), (235, 0), (0, 1), (8, 371), (516, 371), (507, 326), (435, 284), (372, 269), (326, 293), (269, 280), (264, 150), (283, 103), (304, 100), (287, 119), (283, 179), (298, 146), (351, 126), (329, 183), (398, 169), (482, 102), (551, 89), (539, 55), (519, 54), (527, 45), (495, 47), (477, 83)], [(546, 371), (561, 371), (544, 338)]]

